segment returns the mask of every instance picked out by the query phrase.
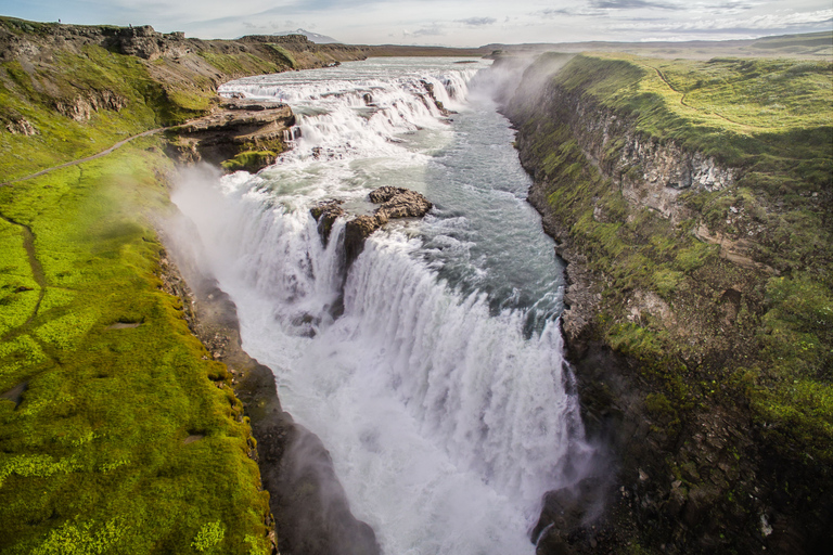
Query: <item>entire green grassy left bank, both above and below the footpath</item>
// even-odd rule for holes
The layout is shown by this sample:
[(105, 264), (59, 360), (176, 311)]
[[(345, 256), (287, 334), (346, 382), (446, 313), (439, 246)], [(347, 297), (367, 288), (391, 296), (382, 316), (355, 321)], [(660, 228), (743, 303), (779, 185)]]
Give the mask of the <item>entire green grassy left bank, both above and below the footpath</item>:
[[(289, 66), (228, 43), (142, 59), (108, 42), (121, 31), (0, 18), (3, 181), (203, 114), (220, 82)], [(242, 404), (163, 287), (164, 152), (158, 135), (137, 139), (0, 186), (2, 553), (270, 550)]]

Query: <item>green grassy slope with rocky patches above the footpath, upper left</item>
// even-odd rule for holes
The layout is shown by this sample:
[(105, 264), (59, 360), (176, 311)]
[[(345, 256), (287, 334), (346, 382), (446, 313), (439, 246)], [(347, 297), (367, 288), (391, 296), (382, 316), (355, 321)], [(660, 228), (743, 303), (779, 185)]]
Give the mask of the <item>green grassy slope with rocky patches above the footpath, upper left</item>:
[[(274, 73), (283, 67), (252, 54), (198, 54), (227, 78)], [(165, 63), (164, 60), (157, 61)], [(157, 63), (154, 62), (154, 63)], [(154, 64), (154, 63), (151, 63)], [(176, 68), (168, 70), (176, 70)], [(76, 120), (55, 106), (102, 95), (124, 106), (100, 106), (89, 119)], [(26, 70), (18, 62), (0, 63), (0, 173), (3, 180), (27, 176), (64, 162), (97, 154), (132, 134), (181, 124), (216, 103), (213, 82), (203, 76), (163, 83), (151, 77), (149, 64), (137, 57), (87, 46), (80, 54), (59, 51), (49, 65)], [(35, 135), (7, 132), (25, 119)]]

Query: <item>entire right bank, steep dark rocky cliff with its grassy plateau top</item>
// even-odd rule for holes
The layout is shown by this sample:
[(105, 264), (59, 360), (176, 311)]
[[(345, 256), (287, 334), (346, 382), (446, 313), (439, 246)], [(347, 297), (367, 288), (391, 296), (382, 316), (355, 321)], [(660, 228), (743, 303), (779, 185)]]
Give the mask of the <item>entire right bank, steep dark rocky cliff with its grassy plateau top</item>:
[(829, 63), (544, 54), (507, 102), (616, 470), (594, 528), (550, 496), (543, 553), (829, 545), (830, 79)]

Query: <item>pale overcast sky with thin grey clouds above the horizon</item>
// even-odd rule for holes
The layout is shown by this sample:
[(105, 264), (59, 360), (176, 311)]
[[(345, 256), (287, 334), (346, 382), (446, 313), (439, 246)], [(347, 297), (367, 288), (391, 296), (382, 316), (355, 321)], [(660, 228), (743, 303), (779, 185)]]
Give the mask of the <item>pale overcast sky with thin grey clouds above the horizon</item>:
[(0, 0), (0, 14), (235, 38), (304, 28), (357, 44), (723, 40), (833, 28), (831, 0)]

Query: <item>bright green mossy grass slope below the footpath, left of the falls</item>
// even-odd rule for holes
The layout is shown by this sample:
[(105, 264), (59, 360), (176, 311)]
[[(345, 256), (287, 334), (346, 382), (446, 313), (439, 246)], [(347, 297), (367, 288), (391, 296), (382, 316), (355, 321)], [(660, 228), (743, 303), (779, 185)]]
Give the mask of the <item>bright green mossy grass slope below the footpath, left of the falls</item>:
[[(0, 400), (3, 553), (265, 553), (242, 406), (156, 275), (159, 146), (0, 189), (46, 282), (30, 322), (30, 302), (3, 311), (0, 392), (26, 384), (18, 406)], [(0, 225), (7, 296), (38, 289), (20, 230)]]

